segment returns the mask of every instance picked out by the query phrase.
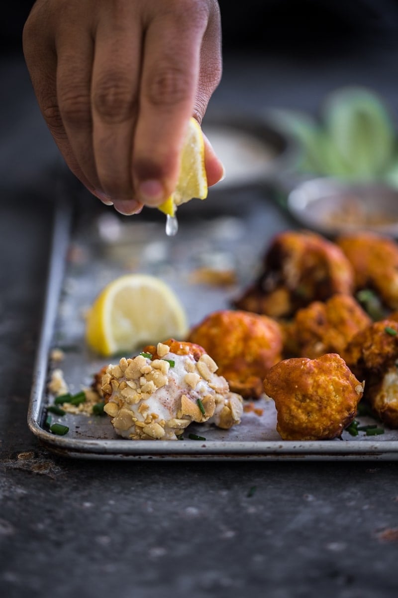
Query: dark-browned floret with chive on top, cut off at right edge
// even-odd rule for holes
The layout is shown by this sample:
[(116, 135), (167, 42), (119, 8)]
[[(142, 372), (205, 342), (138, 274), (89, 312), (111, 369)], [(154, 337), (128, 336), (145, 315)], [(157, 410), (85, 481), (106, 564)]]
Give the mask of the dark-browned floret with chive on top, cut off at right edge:
[(344, 358), (365, 379), (363, 398), (390, 428), (398, 428), (398, 322), (374, 322), (348, 343)]

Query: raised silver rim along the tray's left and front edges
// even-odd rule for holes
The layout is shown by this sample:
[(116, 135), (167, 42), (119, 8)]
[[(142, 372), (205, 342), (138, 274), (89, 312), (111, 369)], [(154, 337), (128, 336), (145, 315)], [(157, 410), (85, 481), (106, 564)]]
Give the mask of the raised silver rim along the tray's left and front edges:
[(54, 205), (53, 235), (48, 260), (47, 288), (32, 390), (27, 412), (30, 431), (45, 447), (69, 457), (87, 459), (162, 459), (162, 460), (398, 460), (398, 440), (362, 442), (323, 441), (131, 441), (122, 439), (79, 439), (57, 436), (40, 425), (45, 396), (53, 328), (66, 255), (72, 233), (73, 203), (63, 188)]

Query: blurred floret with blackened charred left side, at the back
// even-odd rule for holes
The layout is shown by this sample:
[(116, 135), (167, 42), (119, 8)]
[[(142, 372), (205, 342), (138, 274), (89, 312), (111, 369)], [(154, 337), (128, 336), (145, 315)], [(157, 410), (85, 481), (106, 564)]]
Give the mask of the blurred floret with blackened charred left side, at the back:
[(335, 243), (309, 231), (286, 231), (274, 237), (262, 273), (235, 307), (289, 318), (312, 301), (352, 291), (353, 269)]

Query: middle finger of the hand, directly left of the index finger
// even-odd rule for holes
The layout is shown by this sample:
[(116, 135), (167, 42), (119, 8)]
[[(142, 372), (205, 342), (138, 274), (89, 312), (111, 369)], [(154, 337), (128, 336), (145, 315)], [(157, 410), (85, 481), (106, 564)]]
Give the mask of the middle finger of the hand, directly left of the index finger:
[(131, 154), (138, 109), (141, 24), (134, 3), (109, 6), (95, 33), (92, 68), (92, 141), (98, 179), (115, 208), (134, 213)]

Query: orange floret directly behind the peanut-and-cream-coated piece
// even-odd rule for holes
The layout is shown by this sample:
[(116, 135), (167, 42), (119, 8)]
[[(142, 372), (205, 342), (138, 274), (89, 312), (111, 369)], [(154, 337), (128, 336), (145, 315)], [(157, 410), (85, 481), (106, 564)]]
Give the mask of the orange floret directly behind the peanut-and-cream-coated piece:
[(243, 398), (258, 398), (266, 371), (282, 359), (279, 324), (256, 313), (211, 313), (192, 329), (189, 340), (214, 357), (230, 389)]

